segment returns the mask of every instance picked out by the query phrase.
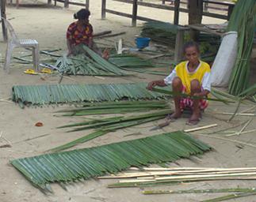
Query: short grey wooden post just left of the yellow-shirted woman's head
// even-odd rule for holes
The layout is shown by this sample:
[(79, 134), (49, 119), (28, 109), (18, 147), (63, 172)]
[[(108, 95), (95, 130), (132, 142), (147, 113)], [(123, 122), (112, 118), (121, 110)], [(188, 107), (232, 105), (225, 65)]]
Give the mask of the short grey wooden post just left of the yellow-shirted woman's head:
[(181, 62), (183, 57), (184, 29), (178, 29), (175, 39), (174, 61)]

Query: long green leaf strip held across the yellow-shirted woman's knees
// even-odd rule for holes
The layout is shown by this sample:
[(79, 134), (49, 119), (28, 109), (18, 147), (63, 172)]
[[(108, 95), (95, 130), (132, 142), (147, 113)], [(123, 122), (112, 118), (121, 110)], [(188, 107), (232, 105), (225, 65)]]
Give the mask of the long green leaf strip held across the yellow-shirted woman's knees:
[[(180, 92), (171, 92), (171, 91), (166, 91), (164, 89), (159, 89), (159, 88), (153, 88), (152, 91), (159, 92), (159, 93), (166, 94), (166, 95), (171, 95), (171, 96), (180, 96), (182, 98), (189, 97), (191, 99), (202, 99), (199, 96), (192, 96), (192, 95), (188, 95), (188, 94), (180, 93)], [(227, 99), (214, 99), (214, 98), (208, 98), (208, 97), (204, 97), (203, 99), (212, 100), (212, 101), (216, 101), (216, 102), (222, 102), (222, 103), (235, 103), (235, 102), (227, 100)]]

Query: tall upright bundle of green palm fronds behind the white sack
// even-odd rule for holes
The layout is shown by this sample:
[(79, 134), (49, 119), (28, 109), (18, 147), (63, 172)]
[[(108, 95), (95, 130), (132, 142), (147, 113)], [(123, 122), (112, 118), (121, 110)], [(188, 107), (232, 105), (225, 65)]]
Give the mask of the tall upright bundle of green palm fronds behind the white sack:
[(238, 32), (238, 55), (235, 67), (231, 73), (229, 92), (239, 95), (249, 84), (250, 54), (254, 42), (256, 26), (255, 0), (239, 1), (231, 14), (228, 24), (229, 31)]

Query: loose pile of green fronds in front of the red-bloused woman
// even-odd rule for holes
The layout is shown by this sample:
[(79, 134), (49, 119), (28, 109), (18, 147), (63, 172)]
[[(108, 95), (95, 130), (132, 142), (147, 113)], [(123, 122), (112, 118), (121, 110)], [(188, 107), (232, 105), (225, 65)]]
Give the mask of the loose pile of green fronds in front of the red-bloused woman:
[(117, 65), (106, 61), (100, 55), (90, 50), (89, 47), (79, 47), (83, 50), (83, 54), (71, 56), (67, 58), (63, 56), (58, 58), (55, 63), (59, 73), (67, 73), (73, 75), (101, 75), (101, 76), (125, 76), (127, 72), (120, 69)]

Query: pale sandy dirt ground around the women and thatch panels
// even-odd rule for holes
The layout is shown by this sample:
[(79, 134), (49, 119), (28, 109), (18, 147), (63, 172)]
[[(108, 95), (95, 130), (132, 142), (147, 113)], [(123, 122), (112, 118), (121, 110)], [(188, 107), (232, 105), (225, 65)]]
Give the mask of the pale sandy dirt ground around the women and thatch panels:
[[(102, 21), (100, 0), (94, 0), (90, 3), (90, 10), (92, 16), (90, 18), (91, 24), (94, 25), (95, 32), (101, 32), (107, 29), (113, 32), (126, 31), (127, 34), (122, 36), (127, 41), (133, 42), (134, 36), (139, 34), (139, 28), (132, 28), (130, 26), (131, 20), (124, 17), (113, 16), (107, 14), (107, 20)], [(22, 1), (21, 1), (22, 3)], [(44, 1), (43, 3), (46, 3)], [(40, 43), (40, 49), (55, 49), (62, 48), (63, 52), (66, 49), (65, 32), (68, 24), (73, 19), (73, 13), (80, 7), (70, 6), (69, 9), (63, 9), (63, 4), (58, 3), (59, 7), (20, 7), (15, 9), (7, 7), (7, 18), (11, 19), (11, 24), (18, 36), (21, 38), (35, 38)], [(124, 3), (110, 2), (108, 7), (128, 12), (131, 6)], [(168, 21), (172, 17), (172, 12), (162, 11), (157, 9), (140, 8), (139, 14), (145, 17), (155, 17), (162, 21)], [(185, 14), (181, 14), (181, 24), (185, 24), (187, 18)], [(209, 17), (204, 17), (204, 23), (219, 23), (220, 20), (215, 20)], [(140, 22), (139, 22), (140, 24)], [(2, 37), (2, 36), (1, 36)], [(118, 39), (118, 37), (116, 38)], [(2, 58), (5, 55), (6, 43), (0, 42), (0, 49)], [(15, 50), (15, 55), (21, 54), (21, 51)], [(2, 64), (2, 63), (1, 63)], [(255, 64), (254, 64), (255, 65)], [(18, 65), (12, 63), (10, 74), (7, 75), (2, 70), (0, 71), (0, 99), (8, 99), (11, 96), (11, 89), (13, 85), (17, 84), (56, 84), (59, 77), (45, 77), (30, 76), (22, 73), (25, 69), (31, 68), (30, 65)], [(167, 72), (166, 72), (167, 74)], [(97, 77), (71, 77), (71, 79), (64, 78), (63, 83), (112, 83), (112, 82), (132, 82), (132, 81), (150, 81), (160, 79), (161, 76), (154, 76), (148, 74), (138, 74), (138, 77), (122, 77), (111, 78), (105, 77), (100, 79)], [(204, 113), (204, 117), (200, 122), (201, 125), (209, 125), (216, 123), (218, 127), (210, 129), (210, 131), (225, 129), (232, 125), (249, 120), (248, 117), (236, 116), (231, 122), (227, 122), (230, 116), (216, 114), (216, 112), (234, 112), (236, 104), (229, 106), (222, 103), (211, 103), (208, 110)], [(251, 104), (242, 104), (239, 111), (246, 110), (251, 107)], [(143, 196), (142, 189), (107, 189), (109, 183), (115, 180), (89, 180), (85, 182), (75, 183), (67, 186), (67, 191), (63, 190), (59, 185), (52, 185), (54, 194), (46, 196), (40, 192), (39, 189), (33, 187), (17, 170), (10, 166), (10, 159), (22, 158), (25, 156), (40, 155), (49, 148), (64, 144), (76, 137), (82, 137), (84, 133), (65, 133), (65, 129), (56, 129), (56, 126), (67, 124), (69, 122), (77, 122), (79, 118), (57, 118), (54, 116), (56, 110), (68, 108), (63, 107), (37, 107), (22, 110), (17, 104), (12, 102), (0, 102), (0, 131), (3, 137), (10, 141), (11, 148), (0, 148), (0, 201), (1, 202), (16, 202), (16, 201), (103, 201), (103, 202), (128, 202), (128, 201), (200, 201), (211, 198), (212, 196), (221, 196), (223, 194), (185, 194), (185, 195), (157, 195), (157, 196)], [(251, 111), (253, 112), (253, 111)], [(130, 140), (138, 137), (147, 137), (153, 134), (163, 132), (171, 132), (178, 129), (189, 129), (191, 127), (185, 125), (185, 118), (181, 118), (175, 123), (171, 123), (163, 130), (150, 131), (158, 122), (139, 125), (129, 129), (118, 130), (116, 133), (109, 133), (103, 137), (91, 140), (86, 144), (81, 144), (76, 148), (85, 148), (101, 144), (108, 144), (112, 142)], [(43, 127), (35, 127), (36, 122), (43, 122)], [(160, 122), (160, 121), (159, 121)], [(252, 120), (246, 130), (255, 129), (255, 119)], [(239, 131), (240, 128), (235, 130)], [(124, 137), (127, 134), (140, 132), (139, 136)], [(90, 131), (86, 132), (90, 133)], [(37, 138), (35, 140), (27, 140), (33, 137), (48, 134), (45, 137)], [(201, 133), (203, 134), (203, 132)], [(194, 134), (194, 137), (204, 141), (205, 143), (215, 148), (198, 158), (182, 159), (178, 161), (179, 166), (212, 166), (212, 167), (238, 167), (238, 166), (255, 166), (256, 151), (255, 148), (235, 144), (228, 140), (220, 140), (216, 138), (203, 137), (200, 134)], [(224, 135), (216, 134), (214, 137), (224, 137)], [(256, 137), (254, 133), (246, 133), (239, 137), (226, 137), (229, 140), (241, 140), (250, 144), (256, 145)], [(0, 139), (0, 145), (5, 144), (5, 141)], [(177, 164), (172, 163), (172, 166)], [(255, 187), (256, 181), (205, 181), (199, 183), (184, 184), (171, 187), (156, 187), (152, 189), (219, 189), (232, 187)], [(231, 200), (232, 201), (232, 200)], [(256, 201), (254, 196), (241, 198), (234, 201)]]

